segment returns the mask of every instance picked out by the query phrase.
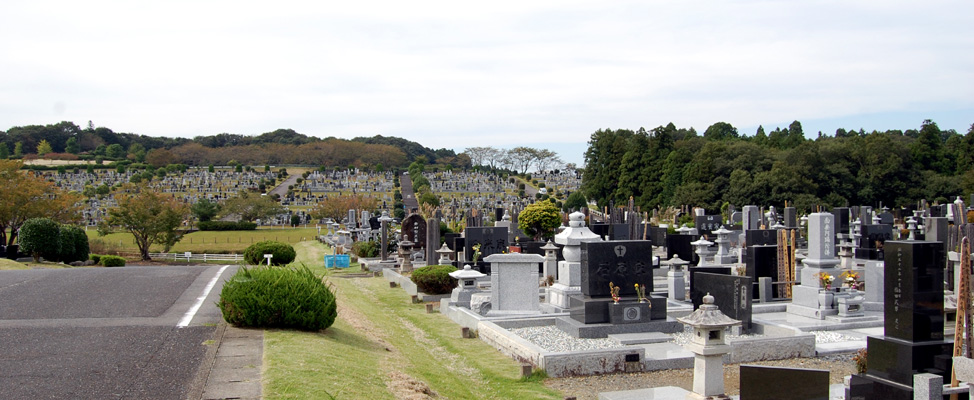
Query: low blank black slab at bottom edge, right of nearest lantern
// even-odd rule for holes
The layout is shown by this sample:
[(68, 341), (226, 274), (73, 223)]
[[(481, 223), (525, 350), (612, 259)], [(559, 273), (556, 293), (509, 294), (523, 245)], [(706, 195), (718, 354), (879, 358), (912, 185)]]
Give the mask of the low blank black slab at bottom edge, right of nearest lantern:
[(829, 370), (741, 365), (741, 399), (828, 400)]

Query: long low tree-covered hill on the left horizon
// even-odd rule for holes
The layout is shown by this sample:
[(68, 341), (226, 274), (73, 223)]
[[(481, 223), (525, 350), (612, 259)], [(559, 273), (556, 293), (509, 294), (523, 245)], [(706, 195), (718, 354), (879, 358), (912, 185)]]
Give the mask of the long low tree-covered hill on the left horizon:
[[(41, 145), (42, 141), (46, 145)], [(18, 154), (19, 152), (19, 154)], [(465, 168), (470, 159), (453, 150), (432, 150), (396, 137), (358, 137), (352, 140), (307, 136), (291, 129), (278, 129), (257, 136), (221, 133), (193, 139), (151, 137), (114, 132), (95, 127), (81, 128), (72, 122), (16, 126), (0, 131), (0, 158), (32, 157), (55, 153), (52, 158), (132, 159), (163, 166), (298, 164), (335, 167), (405, 168), (418, 157), (427, 162)]]

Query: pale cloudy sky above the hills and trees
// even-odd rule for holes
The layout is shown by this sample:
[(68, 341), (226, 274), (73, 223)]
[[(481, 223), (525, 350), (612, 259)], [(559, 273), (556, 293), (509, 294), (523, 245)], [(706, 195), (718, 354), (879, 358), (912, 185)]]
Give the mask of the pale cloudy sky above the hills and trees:
[(600, 128), (966, 133), (974, 2), (14, 1), (0, 130), (294, 129), (581, 164)]

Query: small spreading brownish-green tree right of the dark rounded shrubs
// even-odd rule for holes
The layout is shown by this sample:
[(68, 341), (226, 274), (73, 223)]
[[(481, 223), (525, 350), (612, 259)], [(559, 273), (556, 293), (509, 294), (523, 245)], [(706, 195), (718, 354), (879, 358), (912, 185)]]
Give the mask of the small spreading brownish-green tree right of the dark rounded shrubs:
[(108, 209), (108, 216), (98, 226), (100, 235), (107, 235), (113, 227), (129, 232), (135, 238), (143, 260), (151, 260), (149, 246), (162, 244), (169, 251), (182, 237), (177, 229), (189, 216), (189, 207), (181, 201), (146, 186), (127, 186), (119, 191), (117, 206)]

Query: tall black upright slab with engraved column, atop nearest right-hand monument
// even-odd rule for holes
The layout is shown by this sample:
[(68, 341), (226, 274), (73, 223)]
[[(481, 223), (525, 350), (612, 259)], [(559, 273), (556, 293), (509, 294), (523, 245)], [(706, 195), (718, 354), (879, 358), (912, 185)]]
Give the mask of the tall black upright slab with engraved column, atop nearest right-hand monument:
[(944, 338), (944, 265), (940, 242), (887, 241), (885, 333), (921, 342)]

